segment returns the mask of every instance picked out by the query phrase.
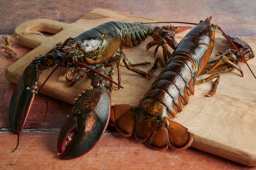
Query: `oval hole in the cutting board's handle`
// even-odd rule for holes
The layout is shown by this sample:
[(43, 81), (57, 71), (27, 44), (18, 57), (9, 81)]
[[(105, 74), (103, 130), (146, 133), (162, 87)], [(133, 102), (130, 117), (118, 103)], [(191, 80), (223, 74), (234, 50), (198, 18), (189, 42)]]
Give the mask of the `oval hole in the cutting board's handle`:
[(63, 30), (63, 27), (58, 25), (53, 25), (49, 23), (39, 22), (30, 25), (27, 27), (29, 31), (38, 31), (42, 33), (44, 36), (54, 36), (55, 34), (61, 32)]

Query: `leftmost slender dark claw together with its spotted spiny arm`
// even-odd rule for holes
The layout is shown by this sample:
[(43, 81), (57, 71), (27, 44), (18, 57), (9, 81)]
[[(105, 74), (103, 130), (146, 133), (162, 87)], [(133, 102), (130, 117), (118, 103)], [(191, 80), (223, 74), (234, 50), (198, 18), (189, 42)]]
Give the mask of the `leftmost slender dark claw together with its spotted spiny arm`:
[(36, 95), (40, 73), (53, 67), (62, 60), (61, 47), (35, 58), (24, 70), (11, 97), (9, 105), (9, 123), (15, 133), (20, 133), (25, 125)]

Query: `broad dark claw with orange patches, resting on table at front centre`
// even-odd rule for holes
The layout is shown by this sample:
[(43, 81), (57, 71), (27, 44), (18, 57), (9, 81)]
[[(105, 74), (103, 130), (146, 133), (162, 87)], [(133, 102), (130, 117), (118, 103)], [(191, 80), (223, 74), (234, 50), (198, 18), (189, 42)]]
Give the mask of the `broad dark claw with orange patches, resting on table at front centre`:
[(108, 126), (110, 108), (110, 92), (106, 87), (98, 86), (83, 92), (61, 128), (58, 155), (71, 159), (89, 152)]

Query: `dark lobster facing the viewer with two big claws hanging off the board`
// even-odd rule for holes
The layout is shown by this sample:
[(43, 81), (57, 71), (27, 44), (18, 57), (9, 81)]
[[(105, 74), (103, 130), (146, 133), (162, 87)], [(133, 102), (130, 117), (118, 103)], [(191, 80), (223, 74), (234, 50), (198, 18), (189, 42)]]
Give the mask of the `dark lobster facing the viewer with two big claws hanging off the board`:
[[(173, 27), (176, 32), (188, 28), (190, 27)], [(85, 90), (74, 103), (72, 114), (68, 116), (59, 134), (58, 155), (63, 159), (70, 159), (89, 152), (108, 125), (110, 93), (112, 83), (115, 83), (112, 81), (112, 75), (115, 70), (118, 72), (118, 83), (115, 84), (119, 87), (121, 63), (124, 63), (127, 69), (149, 77), (150, 73), (136, 69), (121, 49), (140, 44), (150, 32), (149, 24), (106, 22), (76, 38), (67, 38), (63, 44), (32, 60), (18, 81), (9, 105), (9, 123), (13, 132), (18, 134), (18, 143), (19, 134), (38, 92), (58, 67), (67, 67), (65, 78), (70, 86), (89, 73), (93, 89)], [(149, 63), (137, 65), (145, 64)], [(40, 74), (55, 65), (57, 66), (52, 73), (38, 88)], [(111, 66), (108, 73), (105, 65)], [(92, 72), (102, 77), (93, 75)]]

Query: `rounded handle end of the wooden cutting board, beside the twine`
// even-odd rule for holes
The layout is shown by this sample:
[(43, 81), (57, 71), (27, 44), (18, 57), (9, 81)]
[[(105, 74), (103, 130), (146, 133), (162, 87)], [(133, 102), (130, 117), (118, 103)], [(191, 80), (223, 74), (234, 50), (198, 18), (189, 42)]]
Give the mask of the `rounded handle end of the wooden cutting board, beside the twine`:
[(67, 28), (69, 24), (49, 19), (35, 19), (23, 22), (18, 25), (18, 27), (13, 31), (13, 36), (18, 36), (21, 33), (27, 31), (38, 31), (47, 32), (54, 34), (53, 36), (40, 36), (36, 34), (25, 34), (18, 40), (16, 40), (20, 45), (35, 49), (42, 43), (49, 42), (54, 39), (54, 36), (61, 32), (63, 29)]

